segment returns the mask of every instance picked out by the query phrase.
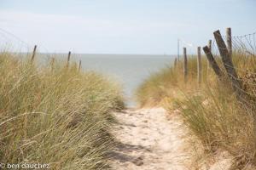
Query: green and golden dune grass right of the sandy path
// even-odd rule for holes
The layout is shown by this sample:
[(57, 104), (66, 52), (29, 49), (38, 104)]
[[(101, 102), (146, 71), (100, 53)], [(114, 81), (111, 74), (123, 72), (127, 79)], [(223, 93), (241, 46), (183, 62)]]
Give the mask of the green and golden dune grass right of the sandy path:
[[(220, 59), (216, 59), (224, 71)], [(256, 165), (256, 58), (235, 51), (232, 59), (242, 90), (249, 96), (245, 100), (248, 105), (237, 100), (228, 78), (221, 83), (212, 69), (207, 69), (205, 57), (201, 86), (197, 83), (196, 58), (191, 57), (187, 84), (180, 61), (176, 67), (172, 65), (148, 77), (137, 89), (137, 99), (142, 106), (164, 105), (170, 113), (179, 110), (207, 151), (227, 150), (234, 157), (236, 169)]]

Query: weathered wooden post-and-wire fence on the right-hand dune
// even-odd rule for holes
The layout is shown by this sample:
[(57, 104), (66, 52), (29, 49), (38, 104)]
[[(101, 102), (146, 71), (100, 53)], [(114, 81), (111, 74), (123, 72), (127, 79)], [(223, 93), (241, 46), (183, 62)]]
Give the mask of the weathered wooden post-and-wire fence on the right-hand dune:
[[(252, 101), (256, 102), (256, 31), (242, 36), (230, 36), (231, 29), (228, 28), (226, 33), (226, 36), (222, 36), (219, 31), (215, 31), (212, 43), (207, 45), (208, 48), (204, 48), (207, 55), (207, 74), (208, 68), (212, 67), (212, 73), (217, 75), (221, 82), (225, 83), (224, 79), (230, 80), (237, 99), (241, 103), (252, 105)], [(185, 52), (192, 51), (192, 55), (196, 54), (198, 46), (186, 41), (180, 42), (181, 46), (186, 48)], [(183, 70), (186, 71), (188, 69), (185, 62), (187, 55), (189, 54), (183, 54)], [(197, 60), (201, 60), (199, 55), (197, 55)], [(198, 75), (201, 75), (199, 69), (201, 61), (195, 66)]]

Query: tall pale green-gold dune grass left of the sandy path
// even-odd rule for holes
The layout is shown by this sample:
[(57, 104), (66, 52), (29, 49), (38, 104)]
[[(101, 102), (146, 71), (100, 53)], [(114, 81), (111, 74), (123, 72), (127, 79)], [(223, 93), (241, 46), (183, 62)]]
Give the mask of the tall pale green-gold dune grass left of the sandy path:
[(75, 64), (46, 66), (0, 54), (0, 162), (106, 169), (119, 85)]

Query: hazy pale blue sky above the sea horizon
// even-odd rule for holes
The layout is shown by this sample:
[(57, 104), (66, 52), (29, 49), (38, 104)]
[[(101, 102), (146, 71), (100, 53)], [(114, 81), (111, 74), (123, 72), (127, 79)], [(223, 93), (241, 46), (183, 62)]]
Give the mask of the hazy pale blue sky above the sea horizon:
[[(42, 52), (177, 54), (177, 38), (196, 47), (217, 29), (256, 31), (255, 7), (255, 0), (0, 0), (0, 29)], [(1, 30), (0, 37), (11, 39)]]

